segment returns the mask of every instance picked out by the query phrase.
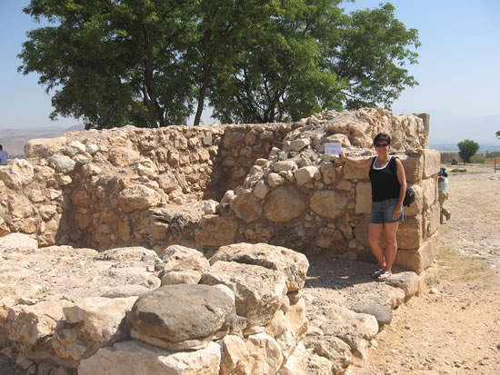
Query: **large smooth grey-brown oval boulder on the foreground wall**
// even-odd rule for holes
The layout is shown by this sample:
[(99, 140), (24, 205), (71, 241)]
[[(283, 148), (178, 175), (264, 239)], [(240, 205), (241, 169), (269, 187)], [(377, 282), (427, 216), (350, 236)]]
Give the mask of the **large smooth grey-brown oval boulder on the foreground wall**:
[(205, 347), (236, 320), (235, 304), (209, 285), (165, 285), (139, 297), (127, 317), (131, 335), (168, 350)]

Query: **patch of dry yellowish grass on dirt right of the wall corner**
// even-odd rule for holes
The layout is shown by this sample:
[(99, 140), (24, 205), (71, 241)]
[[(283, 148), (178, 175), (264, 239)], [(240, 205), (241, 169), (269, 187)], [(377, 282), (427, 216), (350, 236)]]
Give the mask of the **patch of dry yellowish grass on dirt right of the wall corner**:
[(445, 247), (441, 248), (437, 262), (439, 278), (447, 281), (485, 281), (494, 276), (483, 258), (463, 255)]

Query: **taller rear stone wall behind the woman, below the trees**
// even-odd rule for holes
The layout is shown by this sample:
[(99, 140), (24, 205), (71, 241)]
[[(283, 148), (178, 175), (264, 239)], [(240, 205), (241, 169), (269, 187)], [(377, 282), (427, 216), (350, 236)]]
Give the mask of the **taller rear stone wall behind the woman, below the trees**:
[(0, 168), (0, 233), (23, 232), (41, 246), (182, 243), (208, 254), (268, 242), (355, 259), (368, 252), (368, 176), (326, 156), (325, 143), (366, 157), (385, 132), (416, 192), (396, 262), (422, 271), (437, 249), (439, 154), (426, 149), (421, 117), (364, 109), (292, 124), (126, 126), (32, 140), (26, 160)]

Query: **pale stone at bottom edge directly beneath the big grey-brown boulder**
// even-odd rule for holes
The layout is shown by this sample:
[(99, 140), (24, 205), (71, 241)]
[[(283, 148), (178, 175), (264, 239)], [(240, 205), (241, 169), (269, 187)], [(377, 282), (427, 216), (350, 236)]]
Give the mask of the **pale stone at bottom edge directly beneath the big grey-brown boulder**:
[(221, 350), (210, 342), (205, 349), (172, 353), (137, 340), (116, 342), (81, 360), (78, 375), (218, 375)]

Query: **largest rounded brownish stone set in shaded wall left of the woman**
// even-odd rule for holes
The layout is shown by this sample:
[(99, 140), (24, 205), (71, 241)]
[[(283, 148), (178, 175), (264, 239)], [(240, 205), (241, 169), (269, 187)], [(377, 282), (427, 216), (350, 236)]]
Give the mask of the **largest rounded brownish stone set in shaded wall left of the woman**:
[(280, 186), (267, 193), (264, 215), (271, 222), (290, 222), (302, 216), (307, 206), (295, 187)]

